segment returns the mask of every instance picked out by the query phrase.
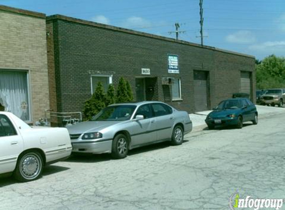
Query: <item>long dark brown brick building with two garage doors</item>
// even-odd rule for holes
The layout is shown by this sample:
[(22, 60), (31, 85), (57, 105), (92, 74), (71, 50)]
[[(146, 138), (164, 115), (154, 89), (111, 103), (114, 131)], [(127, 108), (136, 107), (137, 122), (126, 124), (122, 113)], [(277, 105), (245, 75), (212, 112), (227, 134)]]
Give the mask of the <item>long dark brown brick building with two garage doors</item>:
[(233, 93), (255, 101), (255, 58), (62, 15), (47, 17), (51, 108), (82, 111), (97, 81), (127, 79), (136, 101), (158, 100), (188, 112)]

